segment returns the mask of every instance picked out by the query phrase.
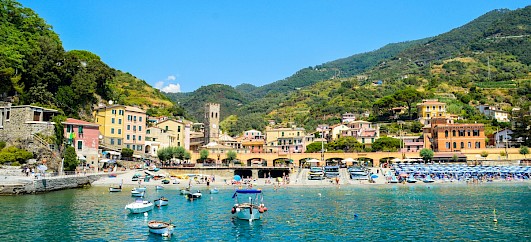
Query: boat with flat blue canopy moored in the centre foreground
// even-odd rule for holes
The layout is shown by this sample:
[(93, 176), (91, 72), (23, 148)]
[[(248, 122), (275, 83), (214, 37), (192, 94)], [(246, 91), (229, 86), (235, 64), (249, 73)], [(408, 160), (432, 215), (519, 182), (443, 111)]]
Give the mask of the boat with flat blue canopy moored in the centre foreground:
[[(242, 199), (245, 199), (247, 196), (245, 195), (251, 195), (248, 196), (248, 202), (242, 202), (240, 203), (239, 197), (243, 197)], [(254, 195), (254, 198), (252, 197)], [(267, 211), (267, 208), (263, 204), (263, 195), (262, 190), (257, 189), (240, 189), (236, 190), (234, 192), (234, 195), (232, 195), (232, 198), (235, 200), (235, 204), (231, 209), (232, 214), (236, 214), (236, 217), (238, 219), (242, 220), (257, 220), (260, 219), (262, 216), (262, 213)]]

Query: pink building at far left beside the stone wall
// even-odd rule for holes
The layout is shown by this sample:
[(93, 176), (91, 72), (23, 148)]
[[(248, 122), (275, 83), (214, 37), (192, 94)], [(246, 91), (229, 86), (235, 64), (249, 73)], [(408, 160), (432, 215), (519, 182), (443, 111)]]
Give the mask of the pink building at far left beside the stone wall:
[(99, 124), (67, 118), (63, 122), (66, 144), (76, 149), (81, 162), (98, 167)]

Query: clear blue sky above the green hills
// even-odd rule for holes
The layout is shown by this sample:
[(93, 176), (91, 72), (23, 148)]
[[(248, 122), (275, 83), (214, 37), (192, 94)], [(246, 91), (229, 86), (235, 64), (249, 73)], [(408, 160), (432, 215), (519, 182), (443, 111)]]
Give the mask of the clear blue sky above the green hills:
[(521, 0), (21, 0), (66, 50), (169, 92), (262, 86), (301, 68), (435, 36)]

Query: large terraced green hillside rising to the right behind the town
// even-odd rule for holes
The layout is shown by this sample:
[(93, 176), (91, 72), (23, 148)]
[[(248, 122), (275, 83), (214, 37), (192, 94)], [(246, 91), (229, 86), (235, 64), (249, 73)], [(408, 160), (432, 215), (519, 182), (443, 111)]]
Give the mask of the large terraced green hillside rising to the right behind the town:
[[(447, 100), (454, 113), (480, 119), (471, 105), (496, 103), (510, 109), (526, 102), (516, 99), (527, 95), (528, 89), (516, 93), (515, 87), (526, 87), (530, 79), (530, 11), (531, 7), (494, 10), (435, 37), (304, 68), (262, 87), (203, 88), (219, 91), (220, 103), (232, 95), (227, 92), (238, 91), (245, 97), (237, 106), (222, 110), (227, 112), (224, 117), (235, 115), (227, 128), (234, 134), (263, 127), (268, 119), (312, 129), (320, 122), (337, 123), (344, 112), (370, 111), (375, 114), (372, 119), (388, 120), (386, 109), (406, 106), (403, 90), (414, 90), (416, 99), (441, 93), (456, 96)], [(198, 100), (197, 94), (181, 95), (191, 101)]]

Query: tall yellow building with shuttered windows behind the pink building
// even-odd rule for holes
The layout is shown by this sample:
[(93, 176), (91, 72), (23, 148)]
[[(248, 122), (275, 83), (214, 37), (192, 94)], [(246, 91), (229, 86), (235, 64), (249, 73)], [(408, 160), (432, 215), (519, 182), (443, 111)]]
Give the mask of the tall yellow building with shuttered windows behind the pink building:
[(129, 148), (136, 155), (144, 154), (146, 138), (146, 112), (140, 108), (112, 105), (94, 110), (93, 116), (100, 125), (100, 144), (108, 149)]

